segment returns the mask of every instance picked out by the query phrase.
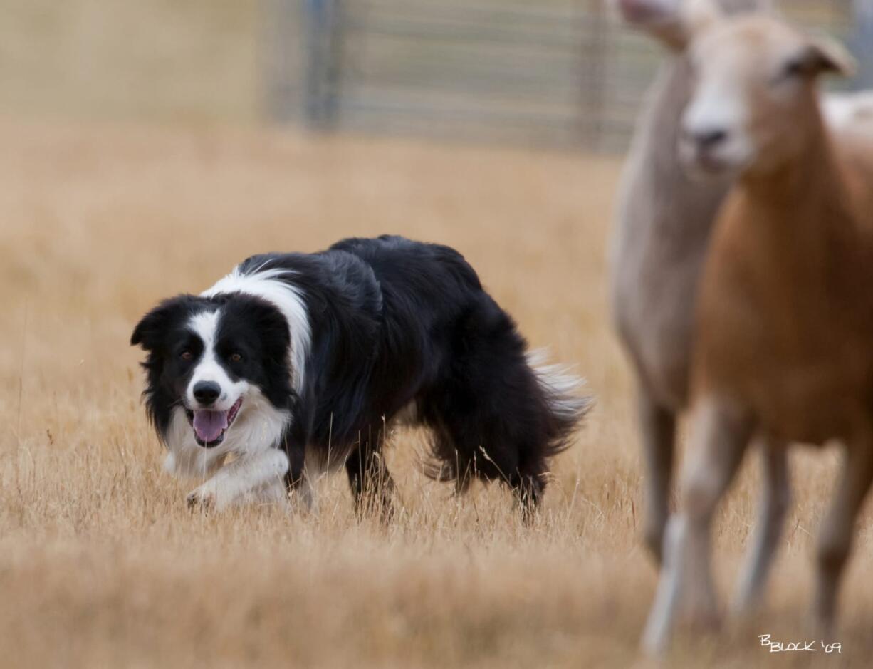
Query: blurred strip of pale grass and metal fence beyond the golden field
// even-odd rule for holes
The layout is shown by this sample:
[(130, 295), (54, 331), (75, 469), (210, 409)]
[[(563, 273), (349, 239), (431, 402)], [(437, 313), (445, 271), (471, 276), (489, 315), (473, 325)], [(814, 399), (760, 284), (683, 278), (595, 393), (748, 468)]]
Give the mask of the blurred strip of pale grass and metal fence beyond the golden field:
[[(0, 113), (615, 152), (658, 58), (604, 0), (28, 0), (3, 4)], [(873, 85), (873, 3), (790, 0)]]

